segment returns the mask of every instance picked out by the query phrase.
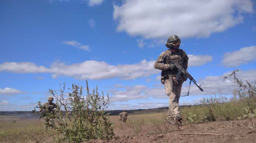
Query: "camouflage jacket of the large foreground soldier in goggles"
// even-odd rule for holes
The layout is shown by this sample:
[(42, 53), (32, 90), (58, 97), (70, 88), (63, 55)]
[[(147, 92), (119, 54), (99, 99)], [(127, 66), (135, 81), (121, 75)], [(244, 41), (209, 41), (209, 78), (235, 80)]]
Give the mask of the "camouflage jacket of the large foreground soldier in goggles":
[[(154, 68), (162, 70), (161, 72), (161, 82), (164, 84), (165, 79), (168, 79), (168, 73), (171, 72), (173, 76), (175, 76), (178, 72), (178, 69), (170, 70), (168, 69), (169, 64), (165, 61), (165, 56), (170, 56), (174, 62), (178, 62), (184, 69), (187, 70), (188, 67), (188, 56), (185, 51), (182, 49), (178, 49), (177, 52), (171, 52), (170, 49), (162, 52), (157, 60), (155, 61)], [(186, 79), (185, 79), (186, 80)]]

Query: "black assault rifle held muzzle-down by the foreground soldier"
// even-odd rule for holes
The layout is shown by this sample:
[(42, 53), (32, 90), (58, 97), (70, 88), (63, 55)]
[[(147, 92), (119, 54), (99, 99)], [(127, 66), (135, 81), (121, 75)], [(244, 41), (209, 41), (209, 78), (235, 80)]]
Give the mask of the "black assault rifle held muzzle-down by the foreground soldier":
[(204, 91), (203, 88), (201, 88), (201, 85), (196, 84), (196, 80), (191, 76), (186, 69), (184, 69), (180, 64), (177, 62), (174, 62), (169, 56), (165, 56), (165, 60), (169, 62), (170, 64), (174, 64), (176, 68), (178, 68), (178, 74), (176, 75), (176, 79), (178, 80), (181, 75), (186, 76), (190, 79), (190, 82), (192, 81), (199, 89), (200, 91)]

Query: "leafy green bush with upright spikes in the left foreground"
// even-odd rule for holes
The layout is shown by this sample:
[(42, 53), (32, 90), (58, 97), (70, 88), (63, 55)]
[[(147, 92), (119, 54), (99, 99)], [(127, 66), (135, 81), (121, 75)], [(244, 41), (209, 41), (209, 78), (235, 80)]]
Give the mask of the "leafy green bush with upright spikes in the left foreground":
[[(49, 89), (56, 98), (58, 106), (54, 112), (39, 113), (40, 117), (54, 118), (52, 128), (58, 132), (56, 142), (85, 142), (91, 139), (112, 139), (114, 136), (109, 113), (105, 111), (109, 105), (107, 99), (98, 93), (98, 87), (89, 92), (86, 81), (86, 96), (83, 95), (83, 86), (72, 84), (72, 92), (65, 97), (65, 84), (60, 87), (60, 93)], [(38, 102), (40, 108), (42, 105)], [(43, 115), (44, 114), (44, 115)]]

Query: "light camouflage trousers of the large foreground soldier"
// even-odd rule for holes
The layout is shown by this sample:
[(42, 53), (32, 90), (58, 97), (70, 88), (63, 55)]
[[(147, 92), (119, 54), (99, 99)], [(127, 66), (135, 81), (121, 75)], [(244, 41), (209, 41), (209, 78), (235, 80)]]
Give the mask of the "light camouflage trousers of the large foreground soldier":
[[(169, 96), (169, 110), (167, 113), (167, 117), (168, 119), (174, 119), (175, 116), (180, 114), (180, 111), (178, 110), (180, 96), (175, 95), (174, 92), (172, 91), (169, 79), (165, 80), (164, 86), (166, 95)], [(180, 95), (181, 86), (182, 83), (173, 84), (173, 89), (178, 95)]]

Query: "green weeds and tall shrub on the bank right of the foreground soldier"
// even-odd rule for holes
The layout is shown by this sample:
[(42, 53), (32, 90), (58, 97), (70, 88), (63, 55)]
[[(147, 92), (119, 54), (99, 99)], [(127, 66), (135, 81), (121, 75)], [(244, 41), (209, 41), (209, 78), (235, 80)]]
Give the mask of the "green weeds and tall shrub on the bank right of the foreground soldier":
[(256, 117), (256, 82), (243, 82), (236, 77), (234, 70), (229, 77), (236, 85), (232, 98), (226, 98), (217, 93), (210, 98), (203, 98), (201, 105), (181, 108), (184, 120), (189, 123), (199, 123), (205, 121), (234, 120)]

